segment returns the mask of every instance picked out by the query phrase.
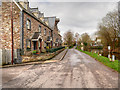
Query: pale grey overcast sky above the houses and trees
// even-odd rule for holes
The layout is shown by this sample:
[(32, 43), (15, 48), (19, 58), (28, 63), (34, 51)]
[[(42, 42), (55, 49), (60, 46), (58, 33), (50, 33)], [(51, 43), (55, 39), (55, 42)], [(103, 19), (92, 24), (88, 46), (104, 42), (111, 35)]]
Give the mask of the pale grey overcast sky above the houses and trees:
[(117, 9), (117, 2), (46, 1), (47, 2), (30, 2), (30, 7), (38, 7), (39, 10), (44, 13), (44, 16), (56, 16), (60, 18), (58, 28), (61, 35), (69, 29), (74, 33), (78, 32), (82, 34), (87, 32), (92, 35), (97, 31), (97, 25), (101, 19), (109, 11)]

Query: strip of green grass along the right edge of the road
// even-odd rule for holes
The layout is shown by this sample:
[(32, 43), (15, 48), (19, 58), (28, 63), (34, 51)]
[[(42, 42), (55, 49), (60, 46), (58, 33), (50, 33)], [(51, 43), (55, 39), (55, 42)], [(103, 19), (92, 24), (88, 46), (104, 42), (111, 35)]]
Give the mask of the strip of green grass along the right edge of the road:
[(112, 62), (112, 61), (109, 61), (109, 58), (104, 57), (104, 56), (98, 56), (98, 54), (96, 54), (96, 53), (82, 51), (80, 49), (77, 49), (77, 50), (79, 50), (85, 54), (88, 54), (89, 56), (91, 56), (91, 57), (95, 58), (96, 60), (98, 60), (99, 62), (103, 63), (104, 65), (106, 65), (120, 73), (120, 61), (119, 60), (115, 60), (114, 62)]

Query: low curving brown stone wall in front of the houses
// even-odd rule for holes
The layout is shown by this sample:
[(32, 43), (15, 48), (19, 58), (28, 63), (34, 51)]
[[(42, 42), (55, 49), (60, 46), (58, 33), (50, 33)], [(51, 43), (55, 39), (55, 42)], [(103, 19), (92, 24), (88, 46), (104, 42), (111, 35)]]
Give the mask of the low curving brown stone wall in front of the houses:
[(45, 53), (45, 54), (40, 54), (40, 55), (23, 55), (22, 56), (22, 63), (26, 62), (32, 62), (32, 61), (45, 61), (53, 58), (60, 52), (62, 52), (64, 49), (58, 50), (54, 53)]

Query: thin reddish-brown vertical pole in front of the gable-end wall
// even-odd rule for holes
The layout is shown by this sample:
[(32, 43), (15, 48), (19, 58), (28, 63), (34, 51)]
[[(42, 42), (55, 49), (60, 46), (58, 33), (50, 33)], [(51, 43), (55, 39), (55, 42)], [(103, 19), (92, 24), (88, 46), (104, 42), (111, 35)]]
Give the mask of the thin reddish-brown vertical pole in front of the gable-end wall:
[(13, 51), (14, 51), (14, 47), (13, 47), (13, 1), (11, 0), (11, 63), (13, 64), (13, 59), (14, 59), (14, 55), (13, 55)]

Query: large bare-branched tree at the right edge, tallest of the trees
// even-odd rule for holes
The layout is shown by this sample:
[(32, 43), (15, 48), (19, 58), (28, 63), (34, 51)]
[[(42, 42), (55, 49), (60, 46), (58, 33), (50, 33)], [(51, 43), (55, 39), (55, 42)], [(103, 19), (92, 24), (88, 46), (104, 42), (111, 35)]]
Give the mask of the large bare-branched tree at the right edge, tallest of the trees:
[(118, 11), (109, 12), (98, 25), (98, 35), (104, 46), (110, 45), (112, 50), (118, 47), (119, 28)]

